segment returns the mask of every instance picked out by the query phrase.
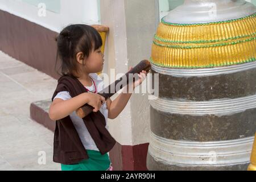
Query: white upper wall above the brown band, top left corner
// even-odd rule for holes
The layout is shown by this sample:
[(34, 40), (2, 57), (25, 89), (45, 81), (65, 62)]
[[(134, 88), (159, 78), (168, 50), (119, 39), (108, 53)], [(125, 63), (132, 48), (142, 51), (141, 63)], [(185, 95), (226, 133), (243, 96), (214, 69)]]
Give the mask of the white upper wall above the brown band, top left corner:
[[(31, 3), (27, 3), (31, 2)], [(1, 0), (0, 10), (7, 11), (30, 22), (39, 24), (49, 30), (60, 32), (68, 24), (85, 23), (99, 24), (97, 0), (61, 0), (58, 11), (49, 11), (46, 7), (46, 16), (40, 15), (39, 11), (42, 7), (35, 6), (39, 1), (17, 1), (17, 0)], [(34, 2), (34, 3), (32, 3)], [(42, 1), (44, 3), (46, 1)], [(46, 3), (46, 6), (49, 6)], [(40, 11), (42, 12), (42, 11)]]

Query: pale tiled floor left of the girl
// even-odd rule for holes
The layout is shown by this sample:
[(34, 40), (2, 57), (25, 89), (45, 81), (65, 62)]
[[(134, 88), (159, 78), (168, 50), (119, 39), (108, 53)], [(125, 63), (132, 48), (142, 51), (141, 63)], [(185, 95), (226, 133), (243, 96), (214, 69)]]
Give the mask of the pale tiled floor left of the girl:
[[(30, 119), (31, 102), (52, 97), (57, 81), (0, 51), (0, 171), (60, 170), (53, 133)], [(46, 164), (40, 151), (46, 154)]]

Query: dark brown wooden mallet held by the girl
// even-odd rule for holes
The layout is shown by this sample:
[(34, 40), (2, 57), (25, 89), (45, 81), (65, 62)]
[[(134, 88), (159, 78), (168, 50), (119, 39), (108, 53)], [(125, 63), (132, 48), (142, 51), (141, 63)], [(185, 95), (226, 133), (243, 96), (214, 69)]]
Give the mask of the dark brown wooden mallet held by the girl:
[[(101, 90), (100, 94), (102, 97), (105, 97), (107, 100), (108, 98), (112, 97), (115, 93), (117, 93), (120, 89), (122, 89), (124, 86), (129, 84), (129, 74), (136, 74), (136, 73), (141, 73), (143, 70), (146, 72), (149, 72), (151, 69), (151, 64), (150, 61), (148, 60), (142, 60), (139, 64), (137, 64), (133, 69), (131, 69), (129, 72), (127, 72), (125, 75), (123, 75), (121, 78), (113, 82), (113, 84), (110, 84), (108, 87), (105, 89)], [(138, 76), (136, 78), (133, 77), (133, 81), (138, 80)], [(118, 88), (117, 85), (122, 83)], [(85, 104), (84, 106), (80, 107), (79, 109), (76, 110), (76, 114), (80, 118), (86, 117), (86, 115), (92, 113), (93, 107)]]

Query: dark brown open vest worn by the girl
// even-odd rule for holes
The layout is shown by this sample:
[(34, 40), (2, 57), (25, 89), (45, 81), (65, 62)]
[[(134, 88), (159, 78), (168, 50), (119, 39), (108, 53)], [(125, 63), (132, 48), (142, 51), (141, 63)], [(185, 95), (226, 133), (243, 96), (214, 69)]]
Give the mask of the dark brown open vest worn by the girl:
[[(69, 92), (72, 98), (87, 92), (84, 85), (77, 78), (69, 76), (59, 78), (57, 88), (52, 96), (52, 101), (57, 93), (62, 91)], [(83, 121), (101, 154), (104, 155), (109, 152), (115, 145), (115, 139), (105, 127), (106, 121), (104, 115), (100, 111), (97, 113), (93, 112), (83, 118)], [(76, 164), (84, 159), (89, 159), (89, 157), (71, 118), (68, 116), (56, 121), (53, 162)]]

